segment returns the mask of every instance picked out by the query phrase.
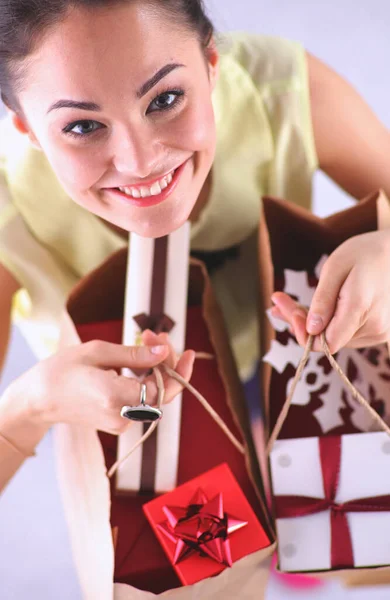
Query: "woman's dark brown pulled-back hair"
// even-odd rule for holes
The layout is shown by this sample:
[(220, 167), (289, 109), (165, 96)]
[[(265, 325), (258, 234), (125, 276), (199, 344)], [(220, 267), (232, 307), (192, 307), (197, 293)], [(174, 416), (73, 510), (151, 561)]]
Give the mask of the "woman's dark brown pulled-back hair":
[[(39, 39), (70, 9), (110, 7), (132, 0), (0, 0), (0, 91), (5, 104), (19, 110), (18, 83), (23, 61), (33, 52)], [(141, 0), (138, 0), (141, 1)], [(213, 35), (203, 0), (142, 0), (161, 8), (173, 23), (196, 33), (206, 50)]]

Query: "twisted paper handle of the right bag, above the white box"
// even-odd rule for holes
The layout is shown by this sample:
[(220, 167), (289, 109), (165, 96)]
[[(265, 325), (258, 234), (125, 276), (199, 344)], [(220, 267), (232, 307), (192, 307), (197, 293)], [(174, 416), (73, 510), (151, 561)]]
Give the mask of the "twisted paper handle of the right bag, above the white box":
[[(378, 423), (378, 425), (381, 427), (381, 429), (383, 429), (383, 431), (385, 431), (388, 435), (390, 435), (390, 428), (386, 425), (386, 423), (384, 422), (384, 420), (378, 415), (378, 413), (372, 408), (372, 406), (370, 406), (370, 404), (367, 402), (367, 400), (358, 392), (358, 390), (355, 388), (355, 386), (353, 385), (353, 383), (350, 382), (350, 380), (348, 379), (348, 377), (345, 375), (345, 373), (342, 371), (340, 365), (337, 363), (337, 361), (335, 360), (335, 358), (332, 356), (332, 354), (330, 353), (329, 350), (329, 346), (327, 344), (326, 341), (326, 337), (325, 337), (325, 333), (321, 333), (321, 343), (322, 343), (322, 348), (323, 351), (327, 357), (327, 359), (329, 360), (330, 364), (332, 365), (332, 367), (334, 368), (334, 370), (336, 371), (336, 373), (338, 373), (338, 375), (340, 376), (340, 378), (342, 379), (342, 381), (345, 383), (345, 385), (349, 388), (349, 390), (351, 391), (351, 394), (353, 396), (353, 398), (355, 400), (357, 400), (358, 402), (360, 402), (360, 404), (362, 406), (364, 406), (364, 408), (367, 410), (367, 412), (372, 416), (372, 418), (374, 419), (374, 421), (376, 421)], [(280, 415), (278, 417), (278, 420), (276, 421), (276, 425), (274, 427), (274, 430), (271, 434), (271, 437), (269, 439), (268, 445), (267, 445), (267, 456), (269, 456), (269, 454), (271, 453), (271, 450), (273, 448), (273, 445), (275, 443), (275, 440), (278, 438), (279, 433), (283, 427), (283, 424), (287, 418), (288, 415), (288, 411), (290, 410), (290, 406), (291, 406), (291, 402), (296, 390), (296, 387), (298, 385), (298, 382), (301, 378), (303, 369), (306, 366), (307, 361), (309, 360), (309, 356), (310, 356), (310, 352), (312, 350), (313, 347), (313, 341), (314, 341), (314, 337), (313, 336), (309, 336), (309, 339), (307, 340), (307, 344), (305, 347), (305, 351), (303, 353), (303, 356), (301, 358), (301, 361), (298, 365), (297, 371), (295, 373), (295, 377), (293, 379), (292, 385), (291, 385), (291, 390), (289, 395), (286, 398), (286, 402), (283, 405), (283, 408), (280, 412)]]

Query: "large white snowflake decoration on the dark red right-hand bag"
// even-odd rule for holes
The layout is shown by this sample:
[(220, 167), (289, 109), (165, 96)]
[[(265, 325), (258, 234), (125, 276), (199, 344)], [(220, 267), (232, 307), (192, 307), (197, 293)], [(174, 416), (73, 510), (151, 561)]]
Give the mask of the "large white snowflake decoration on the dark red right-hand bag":
[[(310, 279), (306, 272), (286, 269), (283, 291), (296, 298), (303, 306), (309, 307), (326, 260), (326, 256), (320, 259), (314, 271), (315, 277)], [(286, 369), (289, 366), (290, 370), (291, 365), (294, 367), (287, 383), (286, 395), (288, 395), (303, 349), (290, 334), (288, 334), (287, 344), (282, 343), (281, 339), (285, 341), (288, 325), (280, 319), (275, 319), (270, 310), (267, 311), (267, 315), (276, 331), (276, 340), (272, 341), (270, 351), (263, 360), (280, 375), (287, 373)], [(365, 349), (344, 348), (337, 353), (336, 359), (364, 398), (386, 421), (389, 421), (390, 360), (387, 345)], [(328, 361), (324, 363), (324, 356), (321, 353), (310, 355), (292, 404), (308, 406), (313, 394), (321, 400), (322, 405), (313, 412), (313, 416), (323, 434), (342, 427), (345, 424), (345, 415), (349, 415), (351, 425), (358, 431), (369, 431), (373, 428), (374, 424), (366, 409), (352, 397), (337, 373), (329, 367)]]

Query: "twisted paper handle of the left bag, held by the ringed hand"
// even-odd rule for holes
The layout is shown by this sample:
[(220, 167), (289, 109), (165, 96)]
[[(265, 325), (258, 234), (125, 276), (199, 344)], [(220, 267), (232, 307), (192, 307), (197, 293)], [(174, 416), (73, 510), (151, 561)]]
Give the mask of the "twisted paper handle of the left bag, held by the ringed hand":
[[(199, 352), (196, 354), (196, 358), (205, 359), (205, 358), (212, 358), (212, 357), (209, 354)], [(216, 424), (222, 429), (224, 434), (229, 438), (229, 440), (237, 448), (237, 450), (239, 452), (241, 452), (241, 454), (245, 454), (245, 447), (233, 435), (233, 433), (230, 431), (230, 429), (228, 428), (228, 426), (226, 425), (224, 420), (221, 419), (219, 414), (213, 409), (212, 406), (210, 406), (210, 404), (207, 402), (206, 398), (204, 396), (202, 396), (202, 394), (200, 392), (198, 392), (198, 390), (196, 388), (194, 388), (194, 386), (192, 386), (185, 379), (183, 379), (183, 377), (181, 377), (178, 373), (176, 373), (176, 371), (174, 371), (173, 369), (170, 369), (169, 367), (167, 367), (167, 365), (164, 365), (164, 364), (161, 364), (160, 367), (163, 368), (170, 377), (172, 377), (173, 379), (176, 379), (176, 381), (178, 381), (183, 387), (187, 388), (191, 392), (191, 394), (193, 394), (195, 396), (195, 398), (197, 398), (197, 400), (199, 400), (199, 402), (202, 404), (202, 406), (207, 410), (209, 415), (214, 419)], [(164, 403), (164, 395), (165, 395), (164, 380), (162, 378), (160, 368), (155, 367), (153, 369), (153, 373), (156, 378), (156, 384), (157, 384), (157, 390), (158, 390), (157, 408), (161, 408)], [(129, 450), (129, 452), (125, 456), (123, 456), (122, 458), (117, 460), (116, 463), (114, 463), (112, 465), (111, 469), (107, 472), (108, 477), (112, 477), (116, 473), (116, 471), (119, 469), (119, 467), (122, 466), (123, 463), (125, 463), (128, 458), (130, 458), (130, 456), (133, 454), (133, 452), (135, 452), (135, 450), (137, 450), (137, 448), (139, 448), (142, 444), (144, 444), (146, 442), (146, 440), (152, 435), (153, 431), (156, 429), (158, 423), (159, 423), (159, 421), (155, 421), (154, 423), (152, 423), (150, 425), (149, 429), (138, 440), (138, 442), (131, 448), (131, 450)]]

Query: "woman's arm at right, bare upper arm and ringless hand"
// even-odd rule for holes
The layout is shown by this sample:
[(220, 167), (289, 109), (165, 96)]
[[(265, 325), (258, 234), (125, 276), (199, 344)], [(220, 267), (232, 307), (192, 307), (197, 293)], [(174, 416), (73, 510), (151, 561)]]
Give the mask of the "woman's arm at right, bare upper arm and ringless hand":
[[(390, 132), (346, 81), (308, 55), (314, 137), (320, 168), (355, 198), (382, 188), (390, 198)], [(287, 294), (273, 315), (304, 345), (326, 330), (331, 351), (390, 339), (390, 230), (356, 236), (326, 261), (309, 314)], [(314, 349), (321, 350), (319, 340)]]

